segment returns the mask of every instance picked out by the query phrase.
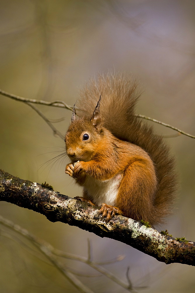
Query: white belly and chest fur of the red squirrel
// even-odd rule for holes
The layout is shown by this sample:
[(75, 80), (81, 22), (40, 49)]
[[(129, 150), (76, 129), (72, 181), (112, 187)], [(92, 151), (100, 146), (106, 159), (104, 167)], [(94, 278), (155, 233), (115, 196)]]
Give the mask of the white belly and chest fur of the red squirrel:
[(99, 181), (87, 176), (83, 187), (95, 205), (100, 206), (102, 203), (115, 205), (121, 179), (121, 174), (106, 181)]

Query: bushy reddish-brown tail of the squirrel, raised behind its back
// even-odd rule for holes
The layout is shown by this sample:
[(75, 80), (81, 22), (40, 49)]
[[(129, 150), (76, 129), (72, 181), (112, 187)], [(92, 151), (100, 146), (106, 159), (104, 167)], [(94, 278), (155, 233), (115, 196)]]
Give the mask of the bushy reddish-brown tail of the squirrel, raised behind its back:
[(103, 126), (124, 141), (136, 144), (149, 154), (155, 167), (158, 181), (154, 199), (154, 223), (163, 223), (163, 218), (171, 212), (175, 197), (176, 176), (174, 159), (169, 155), (169, 147), (163, 138), (154, 133), (152, 127), (134, 114), (135, 104), (140, 96), (137, 82), (125, 74), (99, 75), (91, 79), (76, 103), (76, 114), (91, 117), (102, 94), (100, 115)]

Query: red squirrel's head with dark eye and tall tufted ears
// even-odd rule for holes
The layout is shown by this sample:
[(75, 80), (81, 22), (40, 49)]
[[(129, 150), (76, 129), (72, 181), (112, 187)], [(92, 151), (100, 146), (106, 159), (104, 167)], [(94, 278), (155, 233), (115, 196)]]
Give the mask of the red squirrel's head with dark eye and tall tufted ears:
[(98, 143), (103, 135), (102, 118), (99, 110), (100, 100), (91, 118), (76, 118), (74, 105), (71, 124), (65, 135), (67, 155), (72, 162), (89, 161), (97, 151)]

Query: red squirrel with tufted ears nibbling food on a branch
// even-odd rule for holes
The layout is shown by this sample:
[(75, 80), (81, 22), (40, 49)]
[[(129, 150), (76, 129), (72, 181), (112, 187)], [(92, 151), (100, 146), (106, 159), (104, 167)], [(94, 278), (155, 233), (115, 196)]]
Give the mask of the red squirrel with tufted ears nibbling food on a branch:
[(65, 172), (83, 186), (76, 199), (102, 206), (106, 222), (123, 214), (161, 224), (173, 203), (174, 159), (162, 137), (134, 115), (139, 96), (137, 83), (124, 74), (92, 79), (65, 135), (71, 159)]

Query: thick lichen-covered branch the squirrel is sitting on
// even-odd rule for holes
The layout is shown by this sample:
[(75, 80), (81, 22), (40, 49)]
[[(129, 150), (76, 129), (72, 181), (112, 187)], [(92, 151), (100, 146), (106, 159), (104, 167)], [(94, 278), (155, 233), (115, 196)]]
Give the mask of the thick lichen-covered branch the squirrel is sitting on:
[(177, 241), (119, 215), (106, 224), (98, 215), (98, 207), (44, 188), (39, 183), (22, 180), (3, 170), (0, 170), (0, 200), (39, 212), (51, 222), (60, 221), (100, 237), (121, 241), (166, 264), (195, 265), (195, 242)]

